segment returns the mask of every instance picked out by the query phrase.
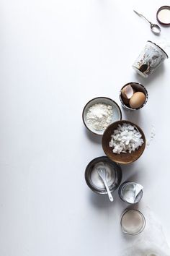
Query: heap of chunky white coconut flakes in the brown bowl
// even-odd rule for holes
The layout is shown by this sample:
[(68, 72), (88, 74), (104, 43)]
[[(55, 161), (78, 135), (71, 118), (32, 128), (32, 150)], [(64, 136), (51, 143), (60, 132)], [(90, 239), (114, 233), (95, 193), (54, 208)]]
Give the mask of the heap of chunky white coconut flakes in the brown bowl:
[(142, 135), (138, 131), (137, 127), (133, 127), (131, 124), (122, 124), (115, 129), (109, 147), (113, 148), (113, 153), (132, 153), (143, 144)]

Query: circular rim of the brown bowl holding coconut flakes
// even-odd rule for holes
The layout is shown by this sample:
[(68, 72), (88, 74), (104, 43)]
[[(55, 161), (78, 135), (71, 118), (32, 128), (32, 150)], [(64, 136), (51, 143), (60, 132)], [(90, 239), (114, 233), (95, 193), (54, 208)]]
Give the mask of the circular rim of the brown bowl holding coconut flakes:
[[(144, 132), (143, 132), (143, 129), (142, 128), (140, 128), (139, 126), (138, 126), (138, 124), (135, 124), (135, 123), (133, 123), (133, 121), (129, 121), (129, 120), (120, 120), (120, 121), (115, 121), (114, 123), (112, 123), (112, 124), (110, 124), (108, 127), (107, 127), (107, 129), (109, 129), (109, 127), (111, 127), (113, 124), (116, 124), (117, 123), (117, 127), (118, 127), (118, 124), (123, 124), (123, 122), (125, 122), (125, 124), (131, 124), (131, 125), (133, 125), (134, 127), (137, 127), (138, 129), (139, 129), (139, 132), (141, 133), (141, 135), (142, 135), (142, 138), (143, 138), (143, 145), (144, 145), (144, 148), (143, 148), (143, 151), (140, 153), (140, 155), (138, 155), (138, 158), (140, 158), (140, 156), (143, 154), (143, 152), (144, 152), (144, 150), (145, 150), (145, 148), (146, 148), (146, 136), (145, 136), (145, 134), (144, 134)], [(105, 131), (104, 131), (104, 134), (106, 134), (107, 133), (107, 129), (105, 129)], [(103, 134), (103, 136), (102, 136), (102, 148), (103, 148), (103, 150), (104, 150), (104, 134)], [(136, 150), (136, 151), (138, 151), (138, 150)], [(104, 153), (107, 155), (107, 152), (104, 150)], [(114, 153), (113, 153), (114, 154)], [(107, 155), (107, 157), (109, 158), (109, 156)], [(114, 161), (115, 163), (122, 163), (122, 164), (128, 164), (128, 163), (133, 163), (133, 162), (135, 162), (135, 161), (137, 161), (138, 160), (138, 158), (135, 158), (133, 161), (128, 161), (128, 162), (125, 162), (125, 161), (115, 161), (114, 159), (111, 159), (111, 158), (109, 158), (111, 161)]]

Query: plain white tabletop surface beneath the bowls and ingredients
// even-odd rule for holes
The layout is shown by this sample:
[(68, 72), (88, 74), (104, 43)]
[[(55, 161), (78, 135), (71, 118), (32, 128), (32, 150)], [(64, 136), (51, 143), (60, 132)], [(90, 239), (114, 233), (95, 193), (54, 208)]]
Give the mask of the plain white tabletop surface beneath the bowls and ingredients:
[[(170, 239), (170, 64), (148, 79), (132, 69), (146, 40), (160, 37), (133, 13), (156, 22), (169, 1), (1, 0), (0, 14), (0, 255), (120, 256), (129, 246), (120, 230), (127, 205), (95, 195), (84, 180), (87, 163), (104, 155), (86, 132), (81, 111), (95, 96), (119, 101), (127, 82), (146, 85), (141, 111), (127, 113), (151, 145), (123, 179), (143, 184), (149, 206)], [(169, 51), (170, 54), (170, 51)], [(149, 219), (147, 220), (149, 221)]]

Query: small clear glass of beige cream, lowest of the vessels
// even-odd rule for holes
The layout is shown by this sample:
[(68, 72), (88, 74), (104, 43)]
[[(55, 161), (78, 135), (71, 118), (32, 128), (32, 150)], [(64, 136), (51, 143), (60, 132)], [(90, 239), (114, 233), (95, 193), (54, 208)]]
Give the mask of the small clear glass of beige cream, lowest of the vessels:
[(146, 226), (146, 219), (139, 210), (125, 210), (121, 217), (122, 231), (125, 234), (140, 234)]

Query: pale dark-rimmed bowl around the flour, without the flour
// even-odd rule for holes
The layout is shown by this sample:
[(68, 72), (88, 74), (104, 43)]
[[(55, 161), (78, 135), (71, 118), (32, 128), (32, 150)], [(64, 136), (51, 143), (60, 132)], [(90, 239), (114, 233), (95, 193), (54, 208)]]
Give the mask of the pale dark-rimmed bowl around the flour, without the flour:
[(93, 127), (91, 127), (90, 124), (88, 124), (88, 121), (86, 119), (87, 111), (89, 110), (89, 108), (91, 106), (93, 106), (96, 103), (104, 103), (106, 105), (112, 106), (113, 115), (112, 115), (112, 121), (110, 122), (110, 124), (112, 124), (115, 121), (121, 120), (122, 112), (120, 110), (120, 107), (117, 105), (117, 103), (115, 101), (113, 101), (111, 98), (97, 97), (97, 98), (93, 98), (91, 101), (86, 103), (86, 106), (84, 106), (84, 110), (83, 110), (83, 114), (82, 114), (82, 118), (83, 118), (85, 127), (87, 129), (89, 129), (90, 132), (93, 132), (95, 135), (103, 135), (104, 129), (102, 129), (102, 131), (94, 129)]

